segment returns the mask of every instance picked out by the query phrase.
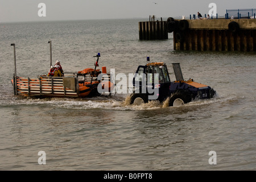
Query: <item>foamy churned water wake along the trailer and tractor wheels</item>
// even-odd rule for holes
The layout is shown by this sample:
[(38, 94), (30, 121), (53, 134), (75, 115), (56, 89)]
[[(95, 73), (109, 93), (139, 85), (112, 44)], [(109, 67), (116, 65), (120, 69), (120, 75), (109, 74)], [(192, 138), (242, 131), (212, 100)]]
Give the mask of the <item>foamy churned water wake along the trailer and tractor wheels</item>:
[[(1, 106), (12, 106), (12, 105), (40, 105), (40, 106), (50, 106), (50, 107), (61, 107), (64, 109), (113, 109), (113, 110), (147, 110), (147, 109), (159, 109), (159, 108), (167, 108), (169, 107), (168, 97), (165, 101), (160, 103), (159, 101), (150, 101), (142, 105), (131, 105), (130, 104), (131, 96), (128, 95), (117, 95), (112, 97), (94, 97), (94, 98), (19, 98), (13, 97), (9, 98), (6, 102), (1, 103)], [(201, 106), (201, 105), (209, 105), (216, 102), (221, 104), (232, 104), (239, 100), (236, 96), (228, 96), (228, 97), (219, 97), (216, 96), (207, 100), (195, 100), (185, 104), (184, 106)]]

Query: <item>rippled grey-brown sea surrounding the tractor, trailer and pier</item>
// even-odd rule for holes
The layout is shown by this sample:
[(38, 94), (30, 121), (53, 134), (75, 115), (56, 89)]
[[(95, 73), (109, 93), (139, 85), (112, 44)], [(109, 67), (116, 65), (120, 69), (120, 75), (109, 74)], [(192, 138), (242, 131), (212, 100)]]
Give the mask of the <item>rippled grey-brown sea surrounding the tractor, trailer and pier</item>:
[[(174, 51), (167, 40), (139, 40), (146, 19), (0, 24), (0, 170), (256, 169), (256, 53)], [(151, 61), (180, 63), (185, 80), (211, 86), (216, 97), (180, 107), (127, 104), (129, 93), (94, 98), (20, 98), (11, 79), (100, 67), (134, 73)], [(44, 151), (46, 164), (39, 164)], [(214, 153), (214, 152), (216, 153)], [(213, 154), (213, 155), (212, 155)], [(215, 164), (212, 163), (214, 157)]]

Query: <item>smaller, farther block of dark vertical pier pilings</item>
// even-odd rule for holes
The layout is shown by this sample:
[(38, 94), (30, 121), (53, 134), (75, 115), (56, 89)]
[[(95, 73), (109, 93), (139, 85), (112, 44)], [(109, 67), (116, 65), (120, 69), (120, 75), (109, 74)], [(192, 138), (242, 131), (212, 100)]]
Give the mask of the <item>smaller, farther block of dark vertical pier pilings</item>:
[(168, 39), (166, 21), (139, 22), (139, 40)]

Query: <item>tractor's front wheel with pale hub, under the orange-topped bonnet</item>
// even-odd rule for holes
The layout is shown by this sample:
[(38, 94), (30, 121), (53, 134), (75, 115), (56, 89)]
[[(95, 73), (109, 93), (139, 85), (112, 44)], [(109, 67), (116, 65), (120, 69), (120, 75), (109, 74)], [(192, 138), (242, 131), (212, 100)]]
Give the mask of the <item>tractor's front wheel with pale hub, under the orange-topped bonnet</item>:
[(169, 100), (169, 106), (182, 106), (184, 104), (187, 104), (188, 102), (191, 102), (191, 94), (187, 92), (178, 92), (175, 93), (174, 96), (172, 96)]

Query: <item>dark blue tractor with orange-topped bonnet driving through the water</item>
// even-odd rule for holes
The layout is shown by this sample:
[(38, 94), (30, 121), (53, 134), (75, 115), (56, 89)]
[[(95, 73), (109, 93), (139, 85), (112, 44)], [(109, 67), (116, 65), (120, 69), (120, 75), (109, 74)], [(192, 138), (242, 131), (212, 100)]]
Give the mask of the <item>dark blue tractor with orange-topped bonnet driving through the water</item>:
[(171, 81), (163, 62), (139, 65), (133, 77), (134, 92), (130, 104), (141, 105), (151, 100), (169, 99), (169, 106), (181, 106), (197, 99), (213, 98), (216, 91), (190, 79), (185, 81), (179, 63), (172, 63), (176, 81)]

